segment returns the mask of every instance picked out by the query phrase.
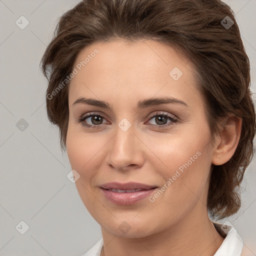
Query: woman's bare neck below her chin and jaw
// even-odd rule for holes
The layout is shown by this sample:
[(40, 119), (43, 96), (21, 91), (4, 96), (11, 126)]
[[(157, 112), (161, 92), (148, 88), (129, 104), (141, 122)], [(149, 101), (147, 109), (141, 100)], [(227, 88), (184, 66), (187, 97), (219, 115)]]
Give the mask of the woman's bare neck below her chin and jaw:
[[(199, 211), (193, 209), (175, 225), (146, 237), (118, 237), (101, 227), (104, 246), (100, 256), (214, 255), (224, 238), (208, 218), (206, 206), (198, 203), (201, 208)], [(199, 216), (198, 212), (204, 214)]]

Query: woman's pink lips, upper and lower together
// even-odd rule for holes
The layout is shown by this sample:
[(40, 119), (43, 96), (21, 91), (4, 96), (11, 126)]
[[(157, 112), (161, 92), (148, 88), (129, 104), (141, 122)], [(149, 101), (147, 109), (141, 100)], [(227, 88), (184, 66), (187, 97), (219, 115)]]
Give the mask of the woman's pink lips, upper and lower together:
[[(110, 182), (100, 185), (100, 190), (104, 196), (115, 204), (129, 205), (140, 202), (149, 196), (157, 187), (155, 185), (147, 185), (138, 182)], [(141, 191), (135, 192), (115, 192), (107, 189), (121, 189), (121, 190), (132, 190), (142, 189)]]

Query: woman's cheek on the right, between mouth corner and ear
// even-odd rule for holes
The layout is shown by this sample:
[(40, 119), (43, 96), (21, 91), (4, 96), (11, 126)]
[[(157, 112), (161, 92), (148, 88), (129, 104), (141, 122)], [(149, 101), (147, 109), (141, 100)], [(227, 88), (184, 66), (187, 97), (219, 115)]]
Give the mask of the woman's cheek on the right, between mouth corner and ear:
[(205, 196), (211, 151), (210, 132), (206, 125), (204, 127), (194, 126), (187, 132), (176, 132), (164, 138), (148, 140), (148, 147), (153, 148), (157, 156), (151, 162), (154, 165), (154, 175), (161, 176), (161, 188), (164, 190), (163, 193), (158, 193), (159, 196), (156, 195), (157, 198), (187, 204), (189, 199)]

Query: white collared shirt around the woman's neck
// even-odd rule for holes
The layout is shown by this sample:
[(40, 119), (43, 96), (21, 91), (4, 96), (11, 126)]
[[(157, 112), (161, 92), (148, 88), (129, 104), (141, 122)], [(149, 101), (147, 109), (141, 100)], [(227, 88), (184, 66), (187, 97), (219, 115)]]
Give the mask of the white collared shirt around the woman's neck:
[[(224, 225), (213, 222), (216, 230), (222, 236), (225, 236), (220, 247), (213, 256), (240, 256), (242, 252), (243, 241), (233, 226)], [(221, 228), (222, 226), (222, 228)], [(224, 231), (223, 231), (224, 230)], [(82, 256), (100, 256), (103, 246), (103, 238), (97, 241), (86, 253)]]

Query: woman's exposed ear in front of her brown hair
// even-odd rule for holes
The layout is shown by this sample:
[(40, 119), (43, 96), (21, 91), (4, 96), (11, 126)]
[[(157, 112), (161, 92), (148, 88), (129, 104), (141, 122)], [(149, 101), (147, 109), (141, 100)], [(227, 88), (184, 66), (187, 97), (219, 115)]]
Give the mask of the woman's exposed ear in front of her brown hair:
[(228, 114), (220, 124), (220, 133), (215, 138), (211, 162), (221, 165), (227, 162), (237, 147), (241, 134), (242, 119)]

